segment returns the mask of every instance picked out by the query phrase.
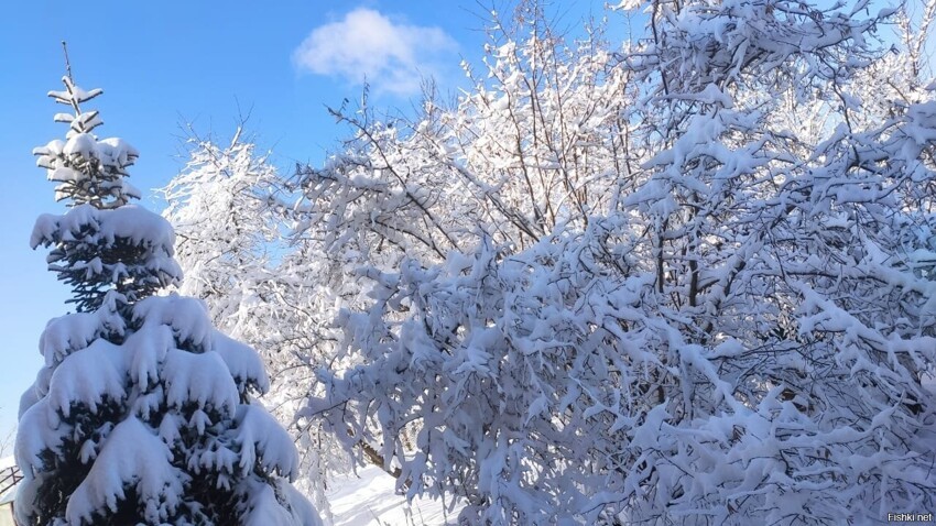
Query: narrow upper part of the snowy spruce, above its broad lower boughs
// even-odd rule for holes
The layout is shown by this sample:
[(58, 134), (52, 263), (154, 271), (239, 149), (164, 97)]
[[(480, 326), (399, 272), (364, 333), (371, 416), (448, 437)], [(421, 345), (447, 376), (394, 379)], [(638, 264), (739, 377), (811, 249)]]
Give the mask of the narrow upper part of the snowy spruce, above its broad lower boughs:
[[(74, 209), (64, 217), (42, 216), (30, 244), (52, 246), (50, 270), (72, 286), (69, 303), (78, 310), (97, 308), (111, 288), (134, 302), (182, 276), (171, 255), (172, 229), (154, 222), (153, 215), (124, 208), (140, 196), (126, 179), (139, 152), (122, 139), (98, 140), (91, 133), (104, 123), (98, 112), (80, 109), (102, 91), (86, 91), (68, 77), (63, 83), (64, 91), (48, 96), (75, 112), (55, 114), (55, 121), (68, 124), (65, 141), (51, 141), (33, 154), (57, 183), (55, 200), (67, 199)], [(135, 216), (126, 217), (131, 213)]]

